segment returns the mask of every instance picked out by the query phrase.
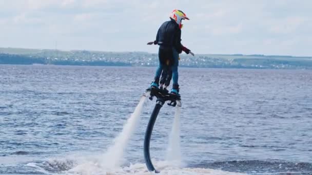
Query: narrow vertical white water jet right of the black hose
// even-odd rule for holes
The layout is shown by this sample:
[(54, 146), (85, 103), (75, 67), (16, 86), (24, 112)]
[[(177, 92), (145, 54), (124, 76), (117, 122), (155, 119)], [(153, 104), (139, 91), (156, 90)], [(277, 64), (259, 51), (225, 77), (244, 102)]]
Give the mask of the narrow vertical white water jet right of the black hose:
[(167, 148), (166, 160), (172, 166), (181, 167), (181, 146), (180, 146), (180, 116), (181, 107), (175, 107), (175, 114), (171, 132), (169, 135), (169, 144)]

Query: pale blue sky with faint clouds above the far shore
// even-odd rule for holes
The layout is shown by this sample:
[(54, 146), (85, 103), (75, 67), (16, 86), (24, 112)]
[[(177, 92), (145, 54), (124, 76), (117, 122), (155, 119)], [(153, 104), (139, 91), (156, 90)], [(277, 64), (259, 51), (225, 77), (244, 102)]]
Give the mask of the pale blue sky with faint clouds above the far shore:
[(0, 0), (0, 47), (136, 51), (173, 9), (195, 54), (312, 56), (312, 1)]

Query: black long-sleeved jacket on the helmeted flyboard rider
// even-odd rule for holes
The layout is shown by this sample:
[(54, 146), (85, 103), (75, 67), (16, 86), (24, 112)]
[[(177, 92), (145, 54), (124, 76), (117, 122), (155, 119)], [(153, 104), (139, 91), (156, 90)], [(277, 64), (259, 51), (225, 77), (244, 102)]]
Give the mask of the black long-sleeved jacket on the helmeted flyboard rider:
[(178, 51), (178, 53), (181, 53), (181, 29), (179, 28), (179, 25), (175, 23), (173, 19), (163, 23), (158, 29), (154, 44), (158, 44), (163, 47), (173, 47)]

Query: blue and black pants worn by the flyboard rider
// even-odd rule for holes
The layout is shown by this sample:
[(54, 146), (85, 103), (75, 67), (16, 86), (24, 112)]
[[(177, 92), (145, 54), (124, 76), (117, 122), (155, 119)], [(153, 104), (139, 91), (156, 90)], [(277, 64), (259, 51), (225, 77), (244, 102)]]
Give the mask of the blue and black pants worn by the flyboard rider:
[(161, 49), (159, 51), (159, 66), (156, 70), (156, 74), (155, 74), (155, 78), (154, 78), (154, 82), (156, 83), (159, 83), (159, 78), (162, 74), (162, 71), (164, 69), (167, 69), (171, 67), (171, 71), (172, 71), (172, 80), (173, 80), (173, 87), (174, 86), (178, 86), (179, 83), (178, 83), (178, 79), (179, 79), (179, 75), (178, 75), (178, 65), (179, 65), (179, 53), (177, 52), (177, 50), (175, 50), (174, 48), (172, 48), (172, 56), (171, 56), (171, 53), (170, 53), (170, 57), (171, 61), (173, 61), (172, 65), (166, 65), (165, 64), (165, 61), (163, 61), (164, 58), (162, 58), (162, 54), (161, 53)]

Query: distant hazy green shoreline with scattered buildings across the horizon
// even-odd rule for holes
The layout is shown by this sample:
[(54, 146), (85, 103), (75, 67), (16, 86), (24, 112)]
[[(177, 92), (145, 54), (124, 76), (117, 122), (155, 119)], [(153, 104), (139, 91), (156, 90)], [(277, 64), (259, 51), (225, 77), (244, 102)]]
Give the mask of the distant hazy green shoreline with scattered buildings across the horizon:
[[(279, 55), (181, 54), (180, 67), (233, 69), (312, 69), (312, 57)], [(146, 52), (60, 51), (0, 48), (0, 64), (157, 67), (158, 54)]]

